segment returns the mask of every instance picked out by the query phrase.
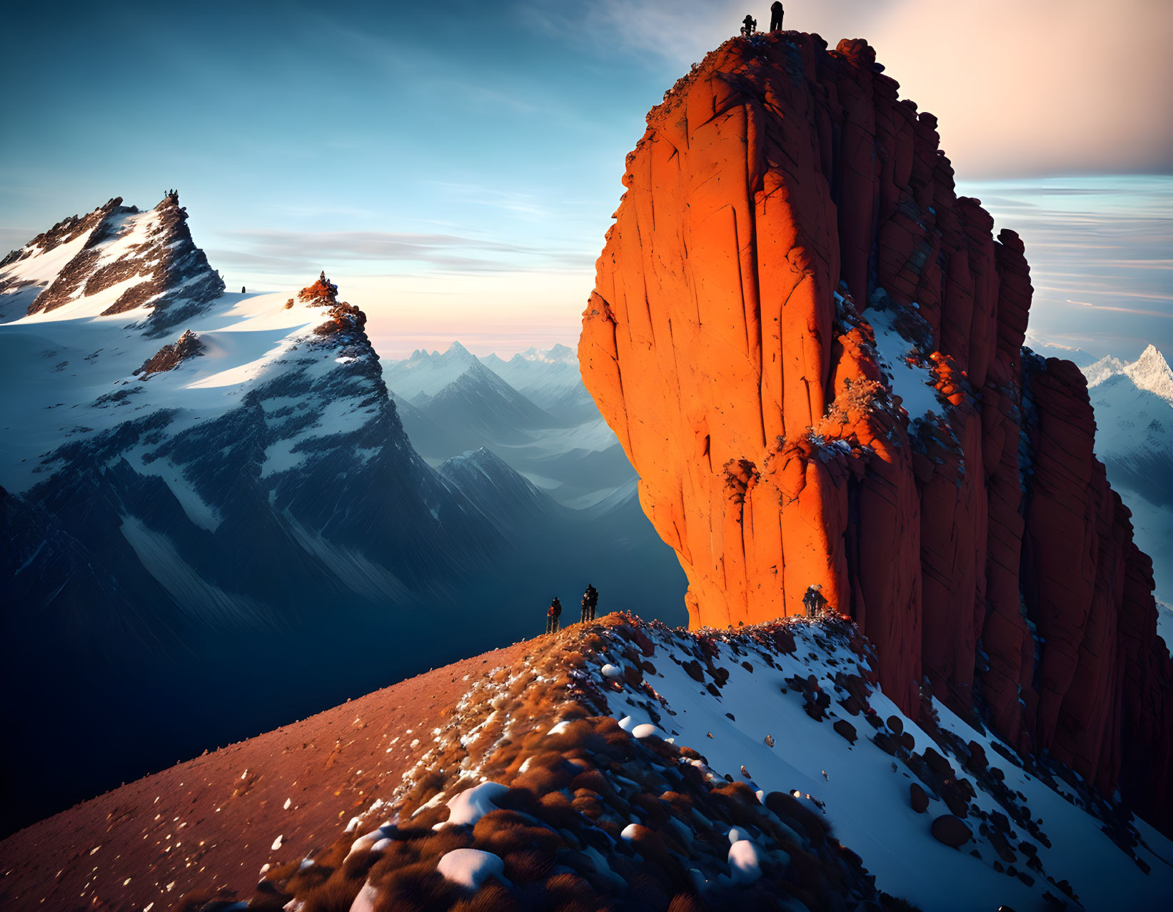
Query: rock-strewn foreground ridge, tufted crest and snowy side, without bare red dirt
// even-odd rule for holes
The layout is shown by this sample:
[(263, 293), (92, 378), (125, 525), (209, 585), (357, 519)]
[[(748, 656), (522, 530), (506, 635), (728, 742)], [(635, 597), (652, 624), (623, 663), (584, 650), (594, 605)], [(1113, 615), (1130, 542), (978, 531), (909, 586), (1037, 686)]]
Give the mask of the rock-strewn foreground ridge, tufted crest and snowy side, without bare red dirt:
[[(574, 626), (433, 720), (415, 768), (332, 846), (274, 846), (258, 897), (325, 884), (341, 907), (393, 904), (400, 872), (455, 852), (488, 866), (472, 889), (499, 905), (570, 878), (583, 908), (1164, 907), (1167, 838), (931, 697), (920, 724), (902, 715), (874, 661), (830, 617)], [(469, 901), (430, 890), (429, 907)]]

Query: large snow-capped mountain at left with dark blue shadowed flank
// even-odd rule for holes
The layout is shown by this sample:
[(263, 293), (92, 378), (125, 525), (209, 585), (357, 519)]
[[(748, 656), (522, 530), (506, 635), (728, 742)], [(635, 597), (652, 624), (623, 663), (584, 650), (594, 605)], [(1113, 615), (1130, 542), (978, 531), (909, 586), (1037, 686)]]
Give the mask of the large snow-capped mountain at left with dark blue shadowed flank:
[[(29, 747), (4, 757), (4, 828), (515, 640), (589, 579), (679, 605), (633, 497), (576, 513), (487, 455), (429, 467), (337, 286), (224, 294), (184, 219), (113, 200), (0, 268), (0, 675), (57, 668), (7, 710)], [(454, 433), (549, 422), (465, 367), (495, 399), (436, 396)]]

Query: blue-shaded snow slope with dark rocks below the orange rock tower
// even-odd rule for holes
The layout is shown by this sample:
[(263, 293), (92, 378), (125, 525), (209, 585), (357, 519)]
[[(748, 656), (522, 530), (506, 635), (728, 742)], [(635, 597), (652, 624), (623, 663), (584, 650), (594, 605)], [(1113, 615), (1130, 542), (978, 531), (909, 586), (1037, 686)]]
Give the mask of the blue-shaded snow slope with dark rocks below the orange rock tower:
[[(694, 746), (718, 775), (812, 796), (876, 885), (927, 911), (1036, 908), (1045, 892), (1067, 898), (1062, 882), (1085, 908), (1116, 908), (1124, 897), (1155, 908), (1173, 886), (1173, 845), (1104, 805), (1078, 777), (1022, 768), (1009, 746), (940, 703), (931, 705), (935, 728), (918, 726), (867, 683), (867, 656), (842, 632), (804, 622), (785, 629), (793, 646), (781, 654), (744, 634), (653, 632), (657, 654), (670, 656), (652, 656), (659, 699), (629, 685), (609, 695), (611, 714), (632, 731), (656, 723), (657, 734)], [(623, 667), (617, 653), (606, 658)], [(827, 716), (815, 721), (827, 697)], [(922, 812), (910, 806), (914, 783), (929, 796)], [(960, 850), (930, 832), (935, 819), (954, 815), (969, 831)]]

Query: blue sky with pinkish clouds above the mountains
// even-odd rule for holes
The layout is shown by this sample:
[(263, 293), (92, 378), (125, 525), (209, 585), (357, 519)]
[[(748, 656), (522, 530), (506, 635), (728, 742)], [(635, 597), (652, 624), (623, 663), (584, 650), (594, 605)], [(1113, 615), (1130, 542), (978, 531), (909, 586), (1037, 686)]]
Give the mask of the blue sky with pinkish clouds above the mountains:
[[(832, 46), (867, 38), (941, 118), (962, 191), (1026, 239), (1037, 329), (1173, 350), (1173, 2), (786, 7)], [(385, 356), (574, 343), (647, 109), (746, 11), (768, 20), (725, 0), (25, 4), (0, 56), (0, 247), (177, 188), (230, 287), (326, 268)]]

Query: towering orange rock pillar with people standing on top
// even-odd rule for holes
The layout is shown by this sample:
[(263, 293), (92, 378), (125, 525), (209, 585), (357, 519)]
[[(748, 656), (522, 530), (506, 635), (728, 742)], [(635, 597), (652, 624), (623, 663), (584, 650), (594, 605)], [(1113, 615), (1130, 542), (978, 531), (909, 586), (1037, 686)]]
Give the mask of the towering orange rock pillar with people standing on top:
[(820, 584), (902, 709), (927, 678), (1167, 825), (1173, 675), (1085, 384), (1022, 349), (1022, 241), (881, 70), (786, 33), (677, 83), (628, 157), (584, 380), (693, 626)]

